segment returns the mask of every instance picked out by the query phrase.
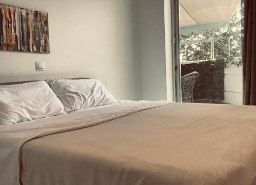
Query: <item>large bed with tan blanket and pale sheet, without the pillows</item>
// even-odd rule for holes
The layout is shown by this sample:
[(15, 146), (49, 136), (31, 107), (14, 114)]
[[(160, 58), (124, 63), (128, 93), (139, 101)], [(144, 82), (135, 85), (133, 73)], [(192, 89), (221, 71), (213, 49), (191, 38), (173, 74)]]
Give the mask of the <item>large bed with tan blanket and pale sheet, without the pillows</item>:
[(255, 113), (241, 105), (117, 101), (0, 125), (0, 184), (256, 184)]

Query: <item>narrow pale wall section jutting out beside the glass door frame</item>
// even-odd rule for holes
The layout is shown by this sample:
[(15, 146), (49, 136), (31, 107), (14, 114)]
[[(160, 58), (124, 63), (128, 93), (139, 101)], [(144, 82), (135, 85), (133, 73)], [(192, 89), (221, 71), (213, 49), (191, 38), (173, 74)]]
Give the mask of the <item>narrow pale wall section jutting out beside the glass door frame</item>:
[[(167, 40), (170, 39), (170, 30), (168, 30), (170, 13), (167, 12), (170, 7), (168, 5), (170, 5), (169, 0), (166, 2), (164, 0), (139, 0), (142, 97), (146, 100), (166, 100), (172, 97), (169, 91), (172, 85), (170, 84), (172, 74), (169, 68), (171, 66), (169, 64), (171, 60), (170, 40)], [(166, 27), (164, 15), (166, 15)], [(165, 32), (168, 35), (166, 43)], [(165, 53), (165, 49), (168, 54)], [(166, 72), (168, 73), (167, 80)]]

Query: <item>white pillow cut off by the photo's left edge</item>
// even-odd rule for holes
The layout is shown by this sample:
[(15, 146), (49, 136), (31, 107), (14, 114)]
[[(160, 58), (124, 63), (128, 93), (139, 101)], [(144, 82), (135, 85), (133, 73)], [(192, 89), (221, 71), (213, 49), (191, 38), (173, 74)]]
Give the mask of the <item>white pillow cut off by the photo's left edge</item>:
[(0, 124), (60, 114), (64, 107), (45, 81), (0, 86)]

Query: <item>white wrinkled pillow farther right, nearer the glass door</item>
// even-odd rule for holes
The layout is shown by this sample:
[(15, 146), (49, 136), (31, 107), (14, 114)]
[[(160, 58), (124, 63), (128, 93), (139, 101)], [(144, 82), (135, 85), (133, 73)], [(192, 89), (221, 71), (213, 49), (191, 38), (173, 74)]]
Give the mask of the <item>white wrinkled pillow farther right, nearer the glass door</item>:
[(97, 79), (62, 79), (47, 82), (67, 112), (115, 102), (115, 98)]

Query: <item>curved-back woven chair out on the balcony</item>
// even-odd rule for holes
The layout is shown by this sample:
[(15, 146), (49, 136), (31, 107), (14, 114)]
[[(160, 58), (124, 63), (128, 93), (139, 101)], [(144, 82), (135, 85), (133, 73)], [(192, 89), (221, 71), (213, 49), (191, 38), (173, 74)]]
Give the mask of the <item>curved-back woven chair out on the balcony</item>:
[(199, 78), (199, 73), (194, 71), (181, 77), (182, 100), (190, 99), (194, 103), (193, 90)]

